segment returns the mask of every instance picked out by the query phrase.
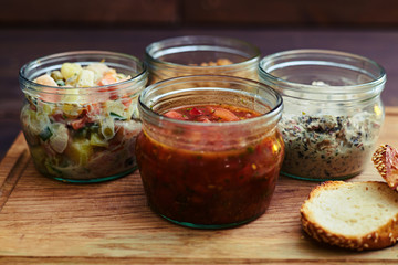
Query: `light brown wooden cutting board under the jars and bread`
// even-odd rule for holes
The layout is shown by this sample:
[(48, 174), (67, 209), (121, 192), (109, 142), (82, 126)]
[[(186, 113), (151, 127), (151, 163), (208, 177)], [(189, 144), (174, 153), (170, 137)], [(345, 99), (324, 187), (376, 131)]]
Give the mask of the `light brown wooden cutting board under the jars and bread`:
[[(398, 146), (398, 108), (379, 144)], [(349, 181), (379, 180), (371, 161)], [(0, 263), (4, 264), (398, 264), (398, 245), (350, 252), (301, 230), (298, 209), (316, 182), (281, 177), (266, 213), (229, 230), (171, 224), (147, 206), (138, 172), (96, 184), (39, 174), (20, 135), (0, 163)]]

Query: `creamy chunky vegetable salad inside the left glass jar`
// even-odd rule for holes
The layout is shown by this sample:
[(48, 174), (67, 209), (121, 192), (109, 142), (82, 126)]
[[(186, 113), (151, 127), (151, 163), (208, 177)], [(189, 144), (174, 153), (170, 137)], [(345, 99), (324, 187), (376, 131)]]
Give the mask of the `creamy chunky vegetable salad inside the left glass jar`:
[[(135, 141), (140, 130), (137, 93), (118, 91), (132, 77), (105, 63), (64, 63), (33, 82), (67, 93), (27, 94), (21, 120), (40, 172), (61, 180), (113, 179), (135, 169)], [(115, 84), (115, 86), (108, 86)], [(93, 96), (85, 89), (104, 86)], [(60, 88), (56, 88), (60, 87)]]

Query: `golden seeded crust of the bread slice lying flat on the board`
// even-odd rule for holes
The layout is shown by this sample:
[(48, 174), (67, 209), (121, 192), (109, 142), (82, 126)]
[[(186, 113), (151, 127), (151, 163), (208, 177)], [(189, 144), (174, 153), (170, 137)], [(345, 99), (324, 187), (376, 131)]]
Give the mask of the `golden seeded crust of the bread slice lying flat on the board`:
[[(323, 192), (326, 189), (338, 189), (342, 186), (355, 186), (356, 183), (358, 182), (326, 181), (314, 188), (310, 193), (308, 199), (301, 208), (303, 230), (318, 242), (355, 251), (377, 250), (394, 245), (398, 241), (398, 213), (376, 231), (369, 231), (368, 233), (358, 236), (350, 236), (329, 231), (314, 220), (312, 211), (307, 206), (308, 201), (314, 200), (320, 192)], [(389, 190), (385, 182), (367, 181), (366, 183), (380, 189), (380, 192), (384, 192), (386, 189)]]

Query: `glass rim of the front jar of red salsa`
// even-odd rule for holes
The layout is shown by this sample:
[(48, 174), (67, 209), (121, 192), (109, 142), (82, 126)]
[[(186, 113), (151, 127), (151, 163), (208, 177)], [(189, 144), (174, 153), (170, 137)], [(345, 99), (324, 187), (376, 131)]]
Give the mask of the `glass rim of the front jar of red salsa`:
[[(218, 81), (217, 81), (218, 80)], [(237, 120), (237, 121), (226, 121), (226, 123), (198, 123), (198, 121), (190, 121), (190, 120), (179, 120), (179, 119), (174, 119), (174, 118), (169, 118), (166, 116), (163, 116), (156, 112), (154, 112), (151, 109), (150, 106), (147, 106), (146, 103), (143, 102), (143, 98), (145, 98), (147, 96), (147, 94), (154, 89), (160, 89), (165, 86), (169, 86), (169, 85), (177, 85), (177, 84), (184, 84), (184, 83), (196, 83), (196, 82), (228, 82), (228, 83), (250, 83), (252, 85), (256, 85), (259, 87), (263, 87), (264, 89), (266, 89), (272, 96), (275, 97), (275, 106), (270, 106), (270, 110), (268, 113), (261, 114), (260, 116), (256, 117), (252, 117), (249, 119), (242, 119), (242, 120)], [(191, 87), (193, 88), (193, 87)], [(191, 88), (186, 88), (186, 89), (191, 89)], [(231, 88), (227, 88), (227, 87), (201, 87), (201, 88), (209, 88), (209, 89), (214, 89), (214, 88), (221, 88), (221, 89), (230, 89)], [(186, 91), (184, 89), (184, 91)], [(239, 89), (232, 89), (234, 92), (242, 92)], [(258, 96), (258, 94), (253, 94), (250, 93), (253, 96)], [(272, 87), (261, 83), (261, 82), (256, 82), (256, 81), (252, 81), (252, 80), (248, 80), (248, 78), (243, 78), (243, 77), (237, 77), (237, 76), (226, 76), (226, 75), (190, 75), (190, 76), (179, 76), (179, 77), (172, 77), (172, 78), (168, 78), (168, 80), (164, 80), (160, 81), (158, 83), (155, 83), (153, 85), (147, 86), (145, 89), (142, 91), (139, 97), (138, 97), (138, 109), (142, 109), (146, 115), (148, 115), (150, 117), (150, 119), (156, 119), (156, 120), (165, 120), (167, 123), (174, 124), (174, 125), (184, 125), (184, 126), (195, 126), (197, 128), (210, 128), (210, 127), (226, 127), (226, 126), (231, 126), (231, 127), (241, 127), (244, 125), (249, 125), (251, 123), (258, 123), (261, 120), (269, 120), (269, 119), (273, 119), (275, 118), (277, 115), (282, 115), (282, 110), (283, 110), (283, 98), (282, 96)]]

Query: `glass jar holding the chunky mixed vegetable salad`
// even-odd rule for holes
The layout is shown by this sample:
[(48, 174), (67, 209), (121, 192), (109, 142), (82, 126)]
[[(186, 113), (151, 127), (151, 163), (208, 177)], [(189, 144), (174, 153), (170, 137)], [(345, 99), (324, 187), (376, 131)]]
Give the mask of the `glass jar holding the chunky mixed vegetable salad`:
[[(38, 83), (39, 76), (60, 74), (64, 63), (81, 67), (100, 63), (129, 78), (92, 87)], [(136, 57), (104, 51), (53, 54), (22, 66), (19, 82), (25, 100), (21, 123), (36, 169), (66, 182), (98, 182), (134, 171), (140, 130), (137, 99), (147, 75)]]

